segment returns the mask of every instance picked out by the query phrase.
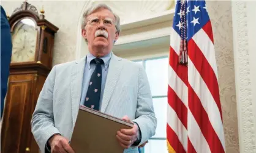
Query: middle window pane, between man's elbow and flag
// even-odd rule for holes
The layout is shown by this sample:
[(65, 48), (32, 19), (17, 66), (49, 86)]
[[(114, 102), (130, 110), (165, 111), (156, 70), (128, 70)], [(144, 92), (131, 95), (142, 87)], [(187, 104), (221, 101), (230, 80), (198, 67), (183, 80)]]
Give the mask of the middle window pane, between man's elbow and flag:
[(156, 134), (153, 138), (166, 138), (167, 97), (153, 98), (153, 105), (157, 118)]

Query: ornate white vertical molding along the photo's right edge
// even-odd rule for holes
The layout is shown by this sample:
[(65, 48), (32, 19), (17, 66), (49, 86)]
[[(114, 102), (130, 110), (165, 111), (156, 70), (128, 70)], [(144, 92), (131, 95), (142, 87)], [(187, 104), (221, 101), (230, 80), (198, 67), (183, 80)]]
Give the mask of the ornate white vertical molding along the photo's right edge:
[[(255, 153), (255, 116), (250, 80), (249, 1), (232, 1), (233, 46), (240, 152)], [(254, 39), (250, 37), (250, 39)], [(255, 51), (255, 49), (254, 49)], [(255, 66), (254, 66), (255, 68)]]

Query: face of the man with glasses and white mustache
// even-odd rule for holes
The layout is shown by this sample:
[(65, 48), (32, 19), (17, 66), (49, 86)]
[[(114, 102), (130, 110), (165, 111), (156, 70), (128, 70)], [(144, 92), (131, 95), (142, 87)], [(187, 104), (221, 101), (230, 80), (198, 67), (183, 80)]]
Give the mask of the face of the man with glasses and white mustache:
[(113, 48), (113, 41), (118, 39), (115, 16), (107, 9), (98, 9), (86, 18), (86, 27), (82, 35), (91, 48)]

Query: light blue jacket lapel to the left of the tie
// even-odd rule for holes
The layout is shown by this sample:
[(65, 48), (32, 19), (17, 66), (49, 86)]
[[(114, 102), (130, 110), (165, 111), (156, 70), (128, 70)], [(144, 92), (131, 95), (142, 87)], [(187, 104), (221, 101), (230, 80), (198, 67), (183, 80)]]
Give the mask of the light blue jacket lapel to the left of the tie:
[(80, 105), (81, 99), (81, 87), (83, 82), (83, 72), (85, 69), (85, 58), (75, 62), (72, 71), (71, 80), (71, 99), (72, 99), (72, 123), (75, 125), (77, 119), (77, 113)]

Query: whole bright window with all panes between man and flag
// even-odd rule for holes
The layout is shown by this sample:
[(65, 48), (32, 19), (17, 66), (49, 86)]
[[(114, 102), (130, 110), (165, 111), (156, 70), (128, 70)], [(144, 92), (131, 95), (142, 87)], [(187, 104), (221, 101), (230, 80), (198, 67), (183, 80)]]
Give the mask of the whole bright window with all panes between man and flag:
[(168, 153), (166, 141), (168, 57), (143, 59), (135, 62), (145, 68), (157, 118), (156, 134), (145, 147), (141, 148), (141, 153)]

